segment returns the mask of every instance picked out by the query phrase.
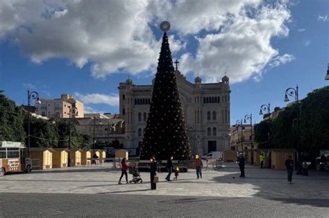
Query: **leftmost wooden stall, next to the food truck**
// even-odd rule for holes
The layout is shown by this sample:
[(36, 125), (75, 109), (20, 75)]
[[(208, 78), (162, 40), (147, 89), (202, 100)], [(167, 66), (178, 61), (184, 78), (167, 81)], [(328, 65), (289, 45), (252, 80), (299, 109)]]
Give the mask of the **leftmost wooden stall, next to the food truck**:
[(33, 159), (33, 170), (45, 170), (53, 167), (53, 152), (51, 147), (31, 147), (30, 156)]

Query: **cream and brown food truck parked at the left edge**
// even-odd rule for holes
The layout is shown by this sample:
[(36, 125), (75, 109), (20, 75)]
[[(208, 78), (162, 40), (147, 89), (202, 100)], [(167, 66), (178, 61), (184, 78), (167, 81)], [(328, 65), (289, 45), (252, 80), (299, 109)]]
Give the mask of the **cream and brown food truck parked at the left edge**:
[(7, 172), (31, 172), (32, 161), (23, 143), (0, 141), (0, 176)]

